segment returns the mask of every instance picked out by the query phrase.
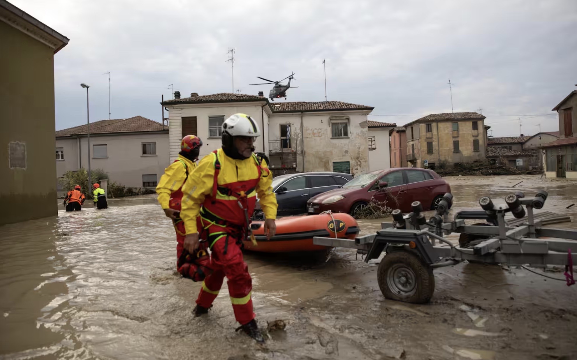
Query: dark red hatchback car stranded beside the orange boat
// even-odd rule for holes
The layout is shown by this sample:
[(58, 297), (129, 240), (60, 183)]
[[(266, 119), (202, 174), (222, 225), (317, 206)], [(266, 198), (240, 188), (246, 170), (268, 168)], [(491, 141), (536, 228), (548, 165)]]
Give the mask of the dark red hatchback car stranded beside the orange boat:
[(359, 175), (342, 188), (310, 198), (307, 212), (316, 214), (331, 210), (354, 215), (372, 201), (402, 212), (410, 212), (411, 203), (421, 201), (425, 210), (434, 210), (443, 195), (449, 192), (451, 186), (433, 170), (390, 168)]

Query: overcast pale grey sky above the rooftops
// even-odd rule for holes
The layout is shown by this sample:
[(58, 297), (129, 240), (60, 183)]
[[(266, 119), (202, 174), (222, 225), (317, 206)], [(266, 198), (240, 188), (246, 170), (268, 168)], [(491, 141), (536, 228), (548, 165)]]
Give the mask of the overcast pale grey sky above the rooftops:
[[(268, 94), (256, 76), (295, 73), (287, 101), (373, 106), (410, 122), (456, 111), (487, 116), (493, 136), (558, 129), (551, 109), (577, 84), (577, 1), (10, 0), (69, 37), (55, 55), (56, 128), (135, 115), (160, 121), (160, 96)], [(279, 100), (277, 100), (279, 101)], [(284, 100), (282, 100), (284, 101)]]

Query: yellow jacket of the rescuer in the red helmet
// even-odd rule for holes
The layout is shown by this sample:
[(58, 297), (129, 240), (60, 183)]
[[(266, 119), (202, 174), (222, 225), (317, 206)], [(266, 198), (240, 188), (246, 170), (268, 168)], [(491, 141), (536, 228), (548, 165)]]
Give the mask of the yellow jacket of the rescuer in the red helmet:
[(178, 193), (186, 180), (186, 172), (188, 176), (196, 168), (196, 163), (186, 159), (182, 155), (178, 155), (178, 159), (164, 169), (164, 174), (160, 177), (160, 182), (156, 185), (156, 193), (158, 194), (158, 202), (163, 209), (170, 208), (170, 198), (179, 197)]

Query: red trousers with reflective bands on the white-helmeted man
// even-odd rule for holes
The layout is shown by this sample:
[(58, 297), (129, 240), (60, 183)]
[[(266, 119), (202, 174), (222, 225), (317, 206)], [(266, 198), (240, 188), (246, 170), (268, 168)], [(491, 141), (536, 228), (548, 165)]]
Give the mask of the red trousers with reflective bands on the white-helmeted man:
[[(208, 227), (209, 239), (216, 233), (228, 233), (220, 237), (212, 245), (211, 267), (214, 272), (208, 275), (203, 282), (196, 303), (202, 307), (210, 307), (222, 287), (224, 276), (228, 279), (228, 293), (233, 303), (234, 317), (241, 325), (248, 324), (254, 318), (252, 299), (252, 279), (248, 266), (242, 258), (241, 247), (237, 245), (241, 239), (238, 230), (230, 227), (213, 225)], [(203, 231), (203, 232), (204, 232)], [(235, 234), (235, 235), (232, 235)], [(218, 235), (217, 235), (218, 236)]]

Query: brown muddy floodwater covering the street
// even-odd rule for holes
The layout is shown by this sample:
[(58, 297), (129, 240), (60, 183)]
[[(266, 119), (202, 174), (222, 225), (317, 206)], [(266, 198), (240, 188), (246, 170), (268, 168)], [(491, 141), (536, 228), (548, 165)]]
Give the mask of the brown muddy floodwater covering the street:
[[(577, 181), (447, 180), (452, 212), (478, 209), (485, 195), (503, 203), (509, 193), (544, 188), (542, 211), (577, 219), (577, 205), (566, 209), (577, 203)], [(359, 226), (368, 233), (388, 220)], [(347, 249), (322, 263), (246, 254), (258, 324), (287, 324), (258, 346), (234, 332), (226, 286), (208, 316), (193, 317), (200, 284), (175, 273), (175, 245), (155, 197), (110, 200), (103, 211), (60, 205), (57, 217), (0, 227), (0, 358), (577, 359), (577, 286), (464, 262), (435, 269), (432, 301), (411, 305), (385, 300), (379, 261), (365, 264)]]

